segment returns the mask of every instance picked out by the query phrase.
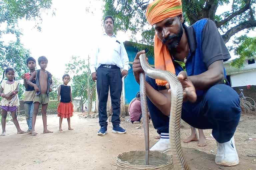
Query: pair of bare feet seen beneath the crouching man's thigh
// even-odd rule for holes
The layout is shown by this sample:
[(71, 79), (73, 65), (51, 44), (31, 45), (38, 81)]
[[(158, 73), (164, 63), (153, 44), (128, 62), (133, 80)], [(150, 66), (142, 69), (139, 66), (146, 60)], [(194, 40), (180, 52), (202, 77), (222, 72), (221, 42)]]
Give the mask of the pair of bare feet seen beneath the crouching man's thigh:
[[(206, 142), (206, 138), (205, 138), (203, 130), (198, 129), (198, 132), (199, 132), (199, 143), (197, 145), (198, 146), (206, 146), (207, 142)], [(183, 142), (188, 143), (191, 141), (198, 141), (198, 137), (196, 134), (196, 128), (194, 128), (192, 126), (191, 126), (191, 135), (187, 139), (185, 139)]]

